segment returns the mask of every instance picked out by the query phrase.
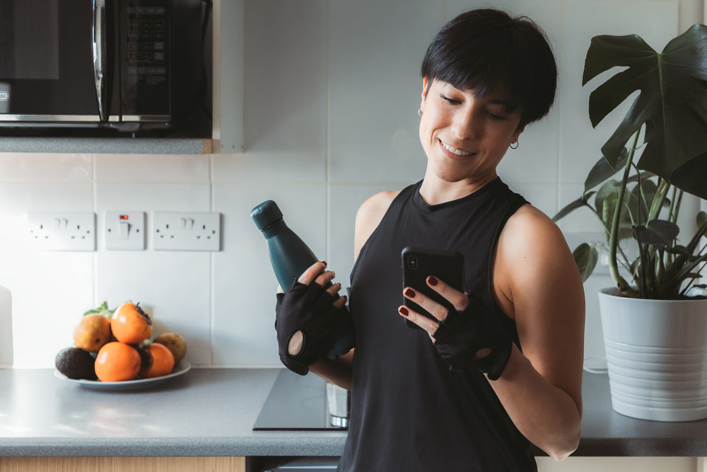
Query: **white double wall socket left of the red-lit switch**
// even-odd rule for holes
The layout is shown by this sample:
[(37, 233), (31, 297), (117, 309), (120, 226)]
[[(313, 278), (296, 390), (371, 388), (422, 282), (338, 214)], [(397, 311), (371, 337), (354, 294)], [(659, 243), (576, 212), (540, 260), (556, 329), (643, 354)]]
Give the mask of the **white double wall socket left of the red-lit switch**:
[(27, 223), (42, 251), (95, 251), (93, 212), (28, 212)]

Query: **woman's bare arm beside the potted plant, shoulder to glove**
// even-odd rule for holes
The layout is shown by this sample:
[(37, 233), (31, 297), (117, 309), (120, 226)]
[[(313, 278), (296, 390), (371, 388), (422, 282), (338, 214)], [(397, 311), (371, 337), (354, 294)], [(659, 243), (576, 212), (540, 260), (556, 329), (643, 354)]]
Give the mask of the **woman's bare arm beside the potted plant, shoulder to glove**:
[(582, 421), (585, 300), (579, 272), (554, 223), (526, 205), (508, 220), (493, 263), (496, 299), (515, 318), (523, 352), (491, 382), (533, 444), (561, 460)]

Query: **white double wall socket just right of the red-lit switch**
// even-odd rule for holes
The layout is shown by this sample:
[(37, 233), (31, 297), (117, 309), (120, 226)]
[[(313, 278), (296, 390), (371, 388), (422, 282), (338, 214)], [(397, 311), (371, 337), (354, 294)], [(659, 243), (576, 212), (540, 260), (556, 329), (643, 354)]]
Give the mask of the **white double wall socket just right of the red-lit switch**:
[(221, 214), (155, 212), (152, 242), (155, 251), (220, 251)]

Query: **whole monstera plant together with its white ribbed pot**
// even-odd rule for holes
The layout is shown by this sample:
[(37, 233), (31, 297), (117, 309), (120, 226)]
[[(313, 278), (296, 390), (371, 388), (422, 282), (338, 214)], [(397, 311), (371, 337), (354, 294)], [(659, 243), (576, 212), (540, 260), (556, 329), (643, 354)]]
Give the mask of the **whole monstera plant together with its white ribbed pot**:
[[(707, 215), (694, 215), (687, 236), (677, 224), (685, 192), (707, 198), (707, 26), (692, 26), (662, 52), (637, 35), (592, 38), (583, 85), (613, 67), (623, 70), (590, 94), (592, 126), (638, 96), (583, 195), (554, 219), (586, 209), (607, 236), (600, 246), (616, 286), (600, 291), (600, 311), (614, 410), (707, 418)], [(574, 255), (586, 280), (597, 245), (583, 243)]]

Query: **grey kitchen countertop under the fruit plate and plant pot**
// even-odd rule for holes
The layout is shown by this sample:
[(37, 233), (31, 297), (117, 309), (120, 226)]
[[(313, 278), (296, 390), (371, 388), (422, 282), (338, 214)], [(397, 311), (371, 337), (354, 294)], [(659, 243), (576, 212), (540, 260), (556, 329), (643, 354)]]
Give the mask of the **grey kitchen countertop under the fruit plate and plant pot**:
[[(95, 391), (51, 369), (0, 370), (0, 456), (338, 456), (343, 431), (253, 431), (279, 369), (192, 369), (137, 391)], [(322, 385), (323, 386), (323, 385)], [(611, 409), (586, 374), (575, 456), (707, 456), (707, 420), (650, 422)]]

